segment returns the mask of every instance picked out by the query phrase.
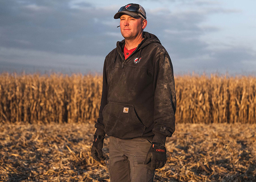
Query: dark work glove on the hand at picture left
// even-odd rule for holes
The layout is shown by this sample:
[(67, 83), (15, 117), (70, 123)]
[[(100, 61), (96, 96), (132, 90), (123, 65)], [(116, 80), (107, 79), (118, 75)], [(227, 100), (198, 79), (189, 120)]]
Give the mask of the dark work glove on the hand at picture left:
[(105, 137), (101, 135), (94, 135), (93, 146), (91, 147), (91, 155), (98, 162), (105, 160), (105, 157), (102, 154), (104, 138)]

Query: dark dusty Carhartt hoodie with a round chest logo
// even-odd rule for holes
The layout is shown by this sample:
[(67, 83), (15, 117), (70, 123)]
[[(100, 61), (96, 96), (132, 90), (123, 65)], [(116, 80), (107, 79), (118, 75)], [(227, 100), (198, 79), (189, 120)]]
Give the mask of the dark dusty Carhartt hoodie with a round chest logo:
[(142, 137), (165, 144), (175, 130), (176, 92), (171, 59), (159, 39), (143, 32), (136, 50), (124, 59), (125, 41), (105, 58), (95, 135)]

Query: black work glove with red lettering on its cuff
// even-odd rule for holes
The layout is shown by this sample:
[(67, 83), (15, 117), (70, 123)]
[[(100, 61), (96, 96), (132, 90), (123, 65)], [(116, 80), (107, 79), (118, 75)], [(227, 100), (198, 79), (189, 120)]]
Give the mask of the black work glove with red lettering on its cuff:
[(157, 142), (152, 142), (150, 149), (148, 150), (146, 160), (144, 164), (148, 164), (147, 168), (151, 171), (163, 167), (167, 161), (165, 145)]

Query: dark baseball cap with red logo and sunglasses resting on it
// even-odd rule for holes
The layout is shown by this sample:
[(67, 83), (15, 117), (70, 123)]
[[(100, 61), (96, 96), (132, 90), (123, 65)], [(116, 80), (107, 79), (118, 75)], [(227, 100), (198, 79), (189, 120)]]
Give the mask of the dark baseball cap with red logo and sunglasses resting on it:
[(145, 9), (139, 4), (130, 3), (125, 6), (122, 6), (114, 15), (114, 19), (120, 18), (122, 13), (129, 15), (131, 17), (142, 17), (144, 20), (147, 19)]

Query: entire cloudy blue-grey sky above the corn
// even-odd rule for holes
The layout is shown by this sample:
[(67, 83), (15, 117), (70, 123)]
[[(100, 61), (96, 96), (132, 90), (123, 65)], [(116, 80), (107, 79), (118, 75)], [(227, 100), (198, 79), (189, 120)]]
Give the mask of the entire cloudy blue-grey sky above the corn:
[(174, 75), (256, 75), (254, 0), (0, 0), (0, 73), (102, 74), (129, 3), (146, 10)]

